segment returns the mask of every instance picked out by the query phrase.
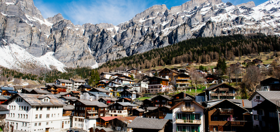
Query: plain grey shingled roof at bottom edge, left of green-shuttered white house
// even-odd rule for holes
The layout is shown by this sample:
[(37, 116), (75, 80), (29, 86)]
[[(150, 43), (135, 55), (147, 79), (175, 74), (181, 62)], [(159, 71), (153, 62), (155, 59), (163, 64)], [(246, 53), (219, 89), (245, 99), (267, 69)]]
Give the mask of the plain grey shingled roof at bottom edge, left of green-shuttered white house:
[(155, 119), (155, 118), (142, 118), (136, 117), (127, 128), (139, 128), (139, 129), (162, 129), (167, 123), (167, 119)]

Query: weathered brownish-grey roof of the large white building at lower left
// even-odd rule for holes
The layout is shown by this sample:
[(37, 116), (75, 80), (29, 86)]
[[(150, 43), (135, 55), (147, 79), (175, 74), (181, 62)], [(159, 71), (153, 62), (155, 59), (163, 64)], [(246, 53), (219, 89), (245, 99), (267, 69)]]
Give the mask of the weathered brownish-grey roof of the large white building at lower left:
[[(16, 98), (17, 96), (20, 96), (21, 98), (23, 98), (31, 106), (34, 106), (34, 105), (66, 105), (63, 101), (61, 101), (60, 99), (58, 99), (52, 95), (23, 94), (23, 93), (15, 94), (10, 99), (5, 101), (3, 104), (8, 104), (9, 101)], [(40, 99), (46, 98), (46, 97), (48, 97), (50, 99), (49, 102), (43, 102), (42, 100), (40, 100)]]

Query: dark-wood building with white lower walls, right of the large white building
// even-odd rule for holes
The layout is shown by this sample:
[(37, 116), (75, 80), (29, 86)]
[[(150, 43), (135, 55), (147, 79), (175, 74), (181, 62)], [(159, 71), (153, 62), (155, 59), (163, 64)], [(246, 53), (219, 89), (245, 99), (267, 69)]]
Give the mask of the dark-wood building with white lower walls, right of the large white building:
[(73, 128), (88, 130), (96, 125), (96, 118), (106, 115), (105, 109), (108, 105), (97, 100), (76, 100), (75, 113), (73, 116)]

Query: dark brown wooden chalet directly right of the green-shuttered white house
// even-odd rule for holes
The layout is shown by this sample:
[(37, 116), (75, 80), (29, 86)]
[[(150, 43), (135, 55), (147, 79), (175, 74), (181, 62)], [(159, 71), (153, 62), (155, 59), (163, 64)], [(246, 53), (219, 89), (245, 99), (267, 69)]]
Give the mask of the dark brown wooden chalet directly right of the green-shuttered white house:
[(207, 102), (205, 111), (206, 131), (252, 131), (252, 114), (247, 109), (223, 99)]

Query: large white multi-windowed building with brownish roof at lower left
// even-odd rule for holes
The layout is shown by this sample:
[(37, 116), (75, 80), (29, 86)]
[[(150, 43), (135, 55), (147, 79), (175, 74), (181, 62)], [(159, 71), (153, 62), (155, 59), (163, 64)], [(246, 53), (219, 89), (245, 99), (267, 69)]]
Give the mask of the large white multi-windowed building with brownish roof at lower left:
[(4, 104), (10, 110), (6, 122), (14, 132), (56, 132), (70, 127), (70, 117), (62, 116), (66, 104), (55, 96), (19, 93)]

